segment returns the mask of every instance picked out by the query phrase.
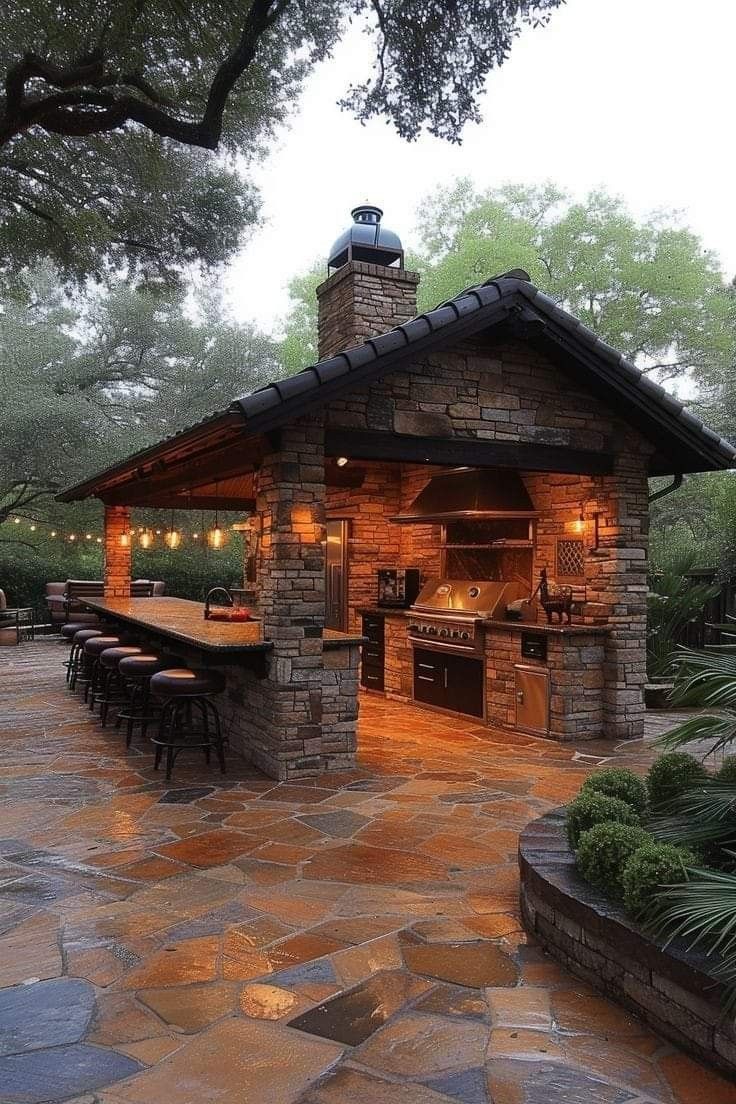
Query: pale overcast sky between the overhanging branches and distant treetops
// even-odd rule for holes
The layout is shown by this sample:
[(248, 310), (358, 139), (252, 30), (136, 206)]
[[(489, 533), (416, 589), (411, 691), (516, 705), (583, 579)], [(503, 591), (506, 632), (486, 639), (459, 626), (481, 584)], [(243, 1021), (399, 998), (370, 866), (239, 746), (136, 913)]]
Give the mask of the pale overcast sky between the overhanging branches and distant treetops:
[(277, 326), (290, 276), (327, 257), (356, 203), (382, 206), (410, 245), (423, 197), (460, 176), (576, 195), (604, 185), (636, 214), (674, 208), (736, 274), (735, 42), (736, 0), (567, 0), (491, 74), (483, 121), (458, 147), (407, 144), (335, 106), (366, 64), (351, 34), (258, 169), (266, 222), (228, 274), (235, 314)]

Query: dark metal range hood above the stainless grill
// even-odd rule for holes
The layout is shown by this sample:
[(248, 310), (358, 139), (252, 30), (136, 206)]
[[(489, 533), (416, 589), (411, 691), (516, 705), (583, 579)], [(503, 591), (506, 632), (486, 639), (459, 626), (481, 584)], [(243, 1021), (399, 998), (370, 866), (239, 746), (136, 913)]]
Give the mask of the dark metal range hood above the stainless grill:
[(433, 476), (406, 513), (390, 520), (409, 524), (461, 518), (535, 517), (536, 510), (518, 471), (456, 468)]

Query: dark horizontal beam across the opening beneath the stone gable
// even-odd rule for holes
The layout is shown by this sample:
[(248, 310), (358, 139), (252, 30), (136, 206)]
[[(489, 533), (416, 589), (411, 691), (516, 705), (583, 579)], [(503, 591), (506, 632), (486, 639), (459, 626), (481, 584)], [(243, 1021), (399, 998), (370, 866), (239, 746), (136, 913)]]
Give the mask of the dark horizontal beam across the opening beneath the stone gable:
[(328, 456), (358, 460), (394, 460), (441, 467), (518, 468), (566, 475), (610, 475), (614, 456), (588, 448), (567, 448), (533, 442), (478, 440), (472, 437), (413, 437), (375, 429), (326, 431)]

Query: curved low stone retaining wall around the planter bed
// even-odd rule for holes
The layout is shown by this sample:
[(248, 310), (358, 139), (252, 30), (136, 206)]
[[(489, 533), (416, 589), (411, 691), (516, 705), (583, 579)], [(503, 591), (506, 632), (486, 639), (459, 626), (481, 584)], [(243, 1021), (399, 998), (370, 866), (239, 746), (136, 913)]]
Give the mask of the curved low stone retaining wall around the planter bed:
[(519, 841), (524, 925), (570, 973), (711, 1066), (736, 1079), (736, 1016), (724, 1012), (712, 960), (642, 932), (575, 869), (565, 810)]

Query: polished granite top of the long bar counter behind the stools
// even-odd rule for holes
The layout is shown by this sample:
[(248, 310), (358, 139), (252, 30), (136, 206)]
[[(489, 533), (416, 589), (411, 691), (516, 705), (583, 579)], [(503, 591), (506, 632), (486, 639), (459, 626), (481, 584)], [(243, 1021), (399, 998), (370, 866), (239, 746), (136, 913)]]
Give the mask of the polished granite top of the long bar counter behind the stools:
[(148, 628), (209, 652), (270, 651), (270, 640), (262, 637), (260, 622), (216, 622), (204, 619), (204, 604), (186, 598), (85, 598), (84, 604), (99, 614)]

